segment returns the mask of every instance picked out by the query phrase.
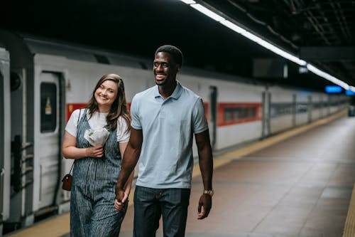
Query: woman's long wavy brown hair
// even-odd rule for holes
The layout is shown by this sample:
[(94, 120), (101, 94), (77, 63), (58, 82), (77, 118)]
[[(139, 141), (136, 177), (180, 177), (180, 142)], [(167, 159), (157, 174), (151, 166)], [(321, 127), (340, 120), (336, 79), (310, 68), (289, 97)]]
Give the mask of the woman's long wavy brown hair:
[(114, 130), (117, 127), (117, 119), (122, 116), (127, 124), (128, 132), (131, 129), (131, 117), (129, 116), (129, 111), (127, 110), (126, 105), (126, 95), (124, 93), (124, 81), (122, 78), (114, 73), (108, 73), (102, 76), (100, 80), (97, 82), (97, 85), (92, 92), (92, 98), (89, 100), (89, 104), (87, 108), (89, 109), (89, 117), (92, 117), (94, 112), (99, 111), (99, 107), (97, 105), (97, 101), (95, 99), (95, 92), (99, 86), (107, 80), (111, 80), (117, 85), (117, 96), (114, 102), (111, 105), (111, 109), (109, 114), (106, 117), (107, 126), (109, 129)]

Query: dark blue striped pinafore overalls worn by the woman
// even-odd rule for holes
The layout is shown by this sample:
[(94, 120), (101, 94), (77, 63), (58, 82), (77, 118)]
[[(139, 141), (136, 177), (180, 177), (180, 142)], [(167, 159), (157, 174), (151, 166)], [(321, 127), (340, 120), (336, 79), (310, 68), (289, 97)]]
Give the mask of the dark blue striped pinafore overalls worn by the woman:
[[(89, 147), (87, 110), (77, 125), (77, 147)], [(114, 209), (115, 186), (121, 168), (116, 129), (104, 145), (104, 157), (76, 159), (70, 197), (70, 236), (119, 236), (125, 212)]]

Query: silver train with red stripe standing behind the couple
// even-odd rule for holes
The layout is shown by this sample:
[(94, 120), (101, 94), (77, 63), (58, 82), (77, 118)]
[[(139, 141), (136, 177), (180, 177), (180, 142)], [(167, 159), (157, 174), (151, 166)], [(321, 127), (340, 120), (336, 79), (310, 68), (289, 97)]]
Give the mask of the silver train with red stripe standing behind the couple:
[[(0, 236), (70, 211), (61, 178), (65, 125), (106, 73), (124, 78), (128, 105), (154, 85), (152, 58), (0, 30)], [(300, 75), (301, 76), (301, 75)], [(346, 95), (268, 85), (183, 65), (178, 80), (202, 97), (214, 153), (328, 117)], [(197, 147), (193, 147), (197, 157)]]

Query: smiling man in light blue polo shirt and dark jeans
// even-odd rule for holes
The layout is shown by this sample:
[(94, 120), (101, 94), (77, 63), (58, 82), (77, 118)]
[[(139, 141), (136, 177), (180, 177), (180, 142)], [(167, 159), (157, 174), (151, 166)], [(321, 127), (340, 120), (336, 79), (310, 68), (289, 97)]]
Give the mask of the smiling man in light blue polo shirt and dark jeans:
[(203, 191), (198, 219), (212, 206), (212, 149), (202, 99), (183, 87), (176, 74), (183, 56), (175, 46), (155, 51), (155, 86), (131, 103), (131, 137), (116, 184), (116, 202), (124, 205), (124, 184), (139, 159), (134, 194), (133, 236), (155, 236), (163, 216), (164, 236), (185, 236), (192, 177), (192, 134), (198, 149)]

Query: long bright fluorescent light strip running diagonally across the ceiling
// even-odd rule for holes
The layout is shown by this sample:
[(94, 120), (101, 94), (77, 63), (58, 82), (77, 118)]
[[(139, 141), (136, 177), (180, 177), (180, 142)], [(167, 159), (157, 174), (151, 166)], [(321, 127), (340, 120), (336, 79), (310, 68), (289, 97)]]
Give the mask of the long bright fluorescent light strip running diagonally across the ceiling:
[(292, 54), (290, 54), (286, 51), (283, 51), (282, 49), (278, 48), (277, 46), (274, 46), (273, 44), (268, 43), (268, 41), (265, 41), (262, 38), (253, 35), (253, 33), (246, 31), (246, 29), (241, 28), (240, 26), (237, 26), (235, 23), (232, 23), (231, 21), (227, 21), (222, 16), (219, 16), (219, 14), (214, 13), (213, 11), (207, 9), (206, 7), (202, 6), (201, 4), (196, 4), (196, 2), (192, 1), (192, 0), (180, 0), (180, 1), (192, 6), (194, 9), (196, 9), (197, 11), (200, 11), (202, 14), (208, 16), (211, 19), (214, 19), (214, 21), (218, 21), (219, 23), (222, 23), (222, 25), (230, 28), (232, 31), (235, 31), (236, 33), (240, 33), (242, 36), (249, 38), (251, 41), (258, 43), (259, 45), (263, 46), (264, 48), (267, 48), (270, 51), (273, 51), (273, 53), (276, 53), (279, 56), (292, 61), (293, 63), (297, 63), (298, 65), (303, 65), (303, 66), (306, 65), (307, 69), (310, 70), (312, 73), (315, 73), (316, 75), (319, 75), (320, 77), (322, 77), (326, 80), (329, 80), (336, 85), (341, 86), (345, 90), (351, 90), (351, 91), (355, 92), (354, 86), (349, 86), (348, 84), (344, 83), (342, 80), (339, 80), (338, 78), (335, 78), (334, 76), (329, 75), (328, 73), (325, 73), (324, 71), (316, 68), (314, 65), (307, 63), (305, 60), (297, 58), (296, 56), (293, 56)]

